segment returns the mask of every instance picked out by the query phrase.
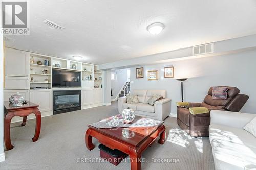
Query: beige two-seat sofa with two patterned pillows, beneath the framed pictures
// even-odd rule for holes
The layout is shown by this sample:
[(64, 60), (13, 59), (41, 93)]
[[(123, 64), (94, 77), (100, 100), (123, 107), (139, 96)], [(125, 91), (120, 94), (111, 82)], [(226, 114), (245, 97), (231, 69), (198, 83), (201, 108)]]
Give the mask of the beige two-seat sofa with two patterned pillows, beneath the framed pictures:
[[(133, 90), (130, 94), (137, 94), (139, 103), (126, 103), (126, 97), (118, 98), (118, 111), (130, 107), (138, 116), (163, 120), (170, 115), (170, 99), (166, 98), (166, 90)], [(156, 101), (154, 106), (147, 104), (147, 100), (153, 95), (159, 94), (164, 99)]]

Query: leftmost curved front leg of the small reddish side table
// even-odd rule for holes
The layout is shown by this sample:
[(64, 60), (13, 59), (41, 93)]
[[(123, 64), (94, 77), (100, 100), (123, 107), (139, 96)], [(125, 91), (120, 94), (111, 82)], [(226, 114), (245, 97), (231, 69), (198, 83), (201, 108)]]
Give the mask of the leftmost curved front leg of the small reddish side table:
[(4, 138), (5, 138), (5, 147), (7, 150), (13, 149), (13, 145), (11, 143), (11, 135), (10, 135), (10, 126), (11, 126), (12, 117), (14, 117), (14, 113), (9, 112), (7, 113), (4, 120)]

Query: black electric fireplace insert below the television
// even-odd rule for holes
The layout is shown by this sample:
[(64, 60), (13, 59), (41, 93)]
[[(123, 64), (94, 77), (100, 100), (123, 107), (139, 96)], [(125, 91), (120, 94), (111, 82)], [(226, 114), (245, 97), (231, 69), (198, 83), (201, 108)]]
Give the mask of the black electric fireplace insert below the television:
[(53, 114), (81, 109), (81, 90), (53, 91)]

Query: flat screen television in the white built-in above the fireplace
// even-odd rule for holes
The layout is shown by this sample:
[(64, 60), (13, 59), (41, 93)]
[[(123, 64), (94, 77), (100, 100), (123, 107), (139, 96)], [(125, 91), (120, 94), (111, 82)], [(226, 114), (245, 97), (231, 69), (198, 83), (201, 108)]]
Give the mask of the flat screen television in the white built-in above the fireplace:
[(52, 69), (52, 87), (80, 87), (81, 72)]

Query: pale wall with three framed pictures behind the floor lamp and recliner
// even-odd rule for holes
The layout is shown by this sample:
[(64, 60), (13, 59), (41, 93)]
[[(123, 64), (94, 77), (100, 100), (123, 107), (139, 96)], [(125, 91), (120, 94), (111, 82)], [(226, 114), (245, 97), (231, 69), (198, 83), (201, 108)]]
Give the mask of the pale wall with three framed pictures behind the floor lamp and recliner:
[[(174, 66), (175, 78), (163, 78), (164, 67)], [(136, 79), (136, 68), (144, 67), (144, 78)], [(158, 81), (147, 81), (147, 70), (158, 70)], [(235, 86), (249, 100), (241, 112), (256, 114), (256, 50), (236, 54), (174, 61), (171, 63), (142, 65), (131, 68), (132, 89), (165, 89), (172, 99), (171, 113), (177, 113), (176, 102), (181, 101), (180, 82), (184, 82), (184, 101), (202, 102), (210, 86)]]

